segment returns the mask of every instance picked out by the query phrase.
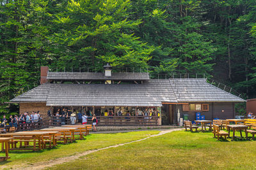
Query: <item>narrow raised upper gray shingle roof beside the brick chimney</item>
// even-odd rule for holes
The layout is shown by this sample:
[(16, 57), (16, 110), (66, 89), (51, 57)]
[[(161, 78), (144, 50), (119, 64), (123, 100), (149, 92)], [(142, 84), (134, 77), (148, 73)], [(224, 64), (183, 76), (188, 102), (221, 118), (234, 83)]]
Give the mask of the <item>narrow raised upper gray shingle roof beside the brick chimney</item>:
[(48, 72), (47, 80), (149, 80), (148, 73), (112, 73), (111, 77), (104, 73), (84, 72)]

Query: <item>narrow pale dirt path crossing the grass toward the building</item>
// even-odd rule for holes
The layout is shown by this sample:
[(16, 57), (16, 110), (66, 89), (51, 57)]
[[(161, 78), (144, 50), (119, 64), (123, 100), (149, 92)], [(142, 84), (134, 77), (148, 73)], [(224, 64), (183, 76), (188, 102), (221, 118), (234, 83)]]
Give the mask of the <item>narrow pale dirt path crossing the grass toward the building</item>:
[[(63, 163), (66, 163), (66, 162), (73, 161), (75, 159), (79, 159), (79, 157), (83, 157), (84, 155), (88, 155), (88, 154), (93, 153), (93, 152), (98, 152), (100, 150), (106, 150), (108, 148), (116, 148), (118, 146), (123, 146), (123, 145), (127, 145), (129, 143), (143, 141), (143, 140), (148, 139), (148, 138), (152, 138), (152, 137), (155, 137), (155, 136), (161, 136), (161, 135), (169, 133), (169, 132), (180, 131), (180, 130), (181, 129), (168, 129), (168, 130), (164, 130), (164, 131), (159, 132), (159, 134), (150, 135), (147, 138), (143, 138), (143, 139), (139, 139), (139, 140), (136, 140), (136, 141), (127, 142), (127, 143), (121, 143), (121, 144), (118, 144), (118, 145), (108, 146), (106, 148), (100, 148), (100, 149), (97, 149), (97, 150), (88, 150), (86, 152), (77, 153), (76, 155), (72, 155), (72, 156), (69, 156), (69, 157), (61, 157), (61, 158), (58, 158), (58, 159), (48, 160), (48, 161), (45, 161), (45, 162), (38, 162), (38, 163), (35, 163), (31, 166), (23, 167), (22, 169), (24, 169), (24, 170), (25, 169), (28, 169), (28, 170), (30, 170), (30, 169), (45, 169), (47, 167), (52, 167), (52, 166), (55, 166), (57, 164), (63, 164)], [(16, 169), (21, 169), (21, 167), (16, 168)]]

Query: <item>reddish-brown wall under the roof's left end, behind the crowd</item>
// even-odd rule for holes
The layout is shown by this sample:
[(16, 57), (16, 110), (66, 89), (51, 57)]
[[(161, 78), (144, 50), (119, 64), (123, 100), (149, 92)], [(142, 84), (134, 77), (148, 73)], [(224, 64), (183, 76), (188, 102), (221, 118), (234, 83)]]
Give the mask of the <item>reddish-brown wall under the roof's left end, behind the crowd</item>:
[(42, 117), (47, 117), (47, 111), (50, 109), (51, 107), (46, 106), (46, 103), (20, 103), (20, 113), (40, 111)]

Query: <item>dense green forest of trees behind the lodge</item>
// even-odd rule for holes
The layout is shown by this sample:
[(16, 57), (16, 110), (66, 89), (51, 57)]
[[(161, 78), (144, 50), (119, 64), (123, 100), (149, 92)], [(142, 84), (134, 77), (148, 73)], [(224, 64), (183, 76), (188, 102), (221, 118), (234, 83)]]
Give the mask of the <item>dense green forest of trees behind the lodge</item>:
[(0, 0), (0, 113), (51, 71), (205, 73), (256, 97), (255, 0)]

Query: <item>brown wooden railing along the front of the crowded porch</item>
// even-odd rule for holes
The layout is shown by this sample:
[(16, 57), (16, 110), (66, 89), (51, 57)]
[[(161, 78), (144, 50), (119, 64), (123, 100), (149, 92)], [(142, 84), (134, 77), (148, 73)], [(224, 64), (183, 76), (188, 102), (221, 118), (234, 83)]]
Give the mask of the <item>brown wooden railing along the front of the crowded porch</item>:
[[(98, 116), (96, 117), (98, 126), (154, 126), (158, 125), (159, 118), (156, 116)], [(46, 122), (49, 126), (61, 126), (61, 117), (52, 116), (49, 122)], [(70, 117), (65, 120), (66, 125), (70, 125)], [(78, 124), (78, 119), (76, 119)], [(92, 117), (88, 117), (87, 124), (92, 124)]]

